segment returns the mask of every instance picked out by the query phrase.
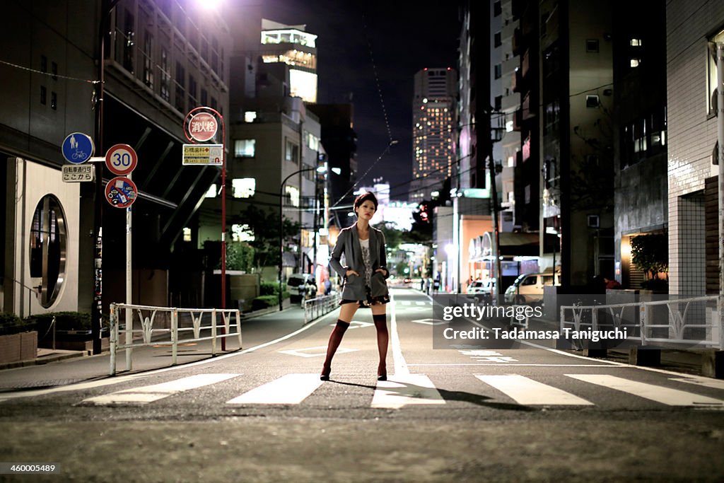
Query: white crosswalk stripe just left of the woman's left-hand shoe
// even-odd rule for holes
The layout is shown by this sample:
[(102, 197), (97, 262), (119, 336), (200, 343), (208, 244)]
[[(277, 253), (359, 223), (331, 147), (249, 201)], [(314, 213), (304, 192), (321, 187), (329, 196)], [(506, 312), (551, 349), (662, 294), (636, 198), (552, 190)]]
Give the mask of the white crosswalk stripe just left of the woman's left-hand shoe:
[(286, 374), (227, 400), (227, 404), (299, 404), (321, 383), (319, 374)]

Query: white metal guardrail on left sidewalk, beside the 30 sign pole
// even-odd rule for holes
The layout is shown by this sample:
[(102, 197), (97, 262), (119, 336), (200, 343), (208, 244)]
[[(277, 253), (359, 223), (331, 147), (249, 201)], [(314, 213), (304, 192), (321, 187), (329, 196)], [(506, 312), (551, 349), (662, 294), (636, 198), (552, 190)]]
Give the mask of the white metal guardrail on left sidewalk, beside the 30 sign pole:
[[(204, 317), (206, 314), (208, 316)], [(134, 315), (137, 316), (135, 320), (139, 322), (140, 329), (133, 328)], [(218, 316), (222, 317), (221, 321), (217, 320)], [(232, 317), (235, 319), (235, 323), (231, 322)], [(126, 370), (130, 371), (133, 366), (133, 349), (138, 347), (171, 345), (171, 364), (176, 365), (179, 343), (211, 340), (212, 356), (216, 355), (216, 339), (238, 337), (239, 347), (242, 346), (241, 317), (237, 309), (153, 307), (111, 303), (110, 319), (111, 376), (116, 374), (118, 350), (126, 351)], [(209, 321), (205, 322), (204, 319), (209, 319)], [(119, 320), (126, 322), (122, 329)], [(156, 323), (156, 327), (154, 327), (154, 323)], [(164, 327), (159, 327), (161, 324)], [(221, 334), (218, 333), (219, 329), (221, 329)], [(202, 337), (201, 331), (205, 330), (211, 330), (211, 335)], [(125, 343), (120, 343), (121, 333), (125, 334)], [(180, 335), (188, 333), (191, 337), (180, 337)]]

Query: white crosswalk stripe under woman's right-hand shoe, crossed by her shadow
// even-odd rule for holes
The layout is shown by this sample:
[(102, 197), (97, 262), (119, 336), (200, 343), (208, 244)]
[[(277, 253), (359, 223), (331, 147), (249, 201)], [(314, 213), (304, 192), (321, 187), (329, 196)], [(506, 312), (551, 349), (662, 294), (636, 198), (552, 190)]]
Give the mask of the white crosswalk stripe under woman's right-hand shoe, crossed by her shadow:
[(424, 374), (400, 374), (377, 382), (373, 408), (399, 409), (408, 404), (445, 404), (445, 400)]

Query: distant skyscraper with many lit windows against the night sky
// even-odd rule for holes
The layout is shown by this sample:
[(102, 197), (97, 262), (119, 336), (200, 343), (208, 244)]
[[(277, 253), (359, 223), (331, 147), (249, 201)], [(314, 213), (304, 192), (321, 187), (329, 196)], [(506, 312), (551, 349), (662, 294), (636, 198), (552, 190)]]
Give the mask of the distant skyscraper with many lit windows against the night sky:
[(452, 175), (457, 72), (450, 67), (415, 74), (413, 98), (413, 181), (410, 200), (430, 199)]

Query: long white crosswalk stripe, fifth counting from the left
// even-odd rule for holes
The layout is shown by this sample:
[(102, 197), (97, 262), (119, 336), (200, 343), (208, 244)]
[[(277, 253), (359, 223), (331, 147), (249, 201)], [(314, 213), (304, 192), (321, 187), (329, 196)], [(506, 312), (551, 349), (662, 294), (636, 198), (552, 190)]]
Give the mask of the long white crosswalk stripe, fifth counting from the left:
[(697, 395), (693, 392), (681, 391), (678, 389), (670, 389), (645, 382), (631, 381), (622, 377), (609, 376), (607, 374), (565, 374), (579, 381), (590, 382), (591, 384), (609, 387), (610, 389), (628, 392), (629, 394), (639, 396), (663, 403), (668, 406), (722, 406), (724, 400), (708, 398), (707, 396)]

